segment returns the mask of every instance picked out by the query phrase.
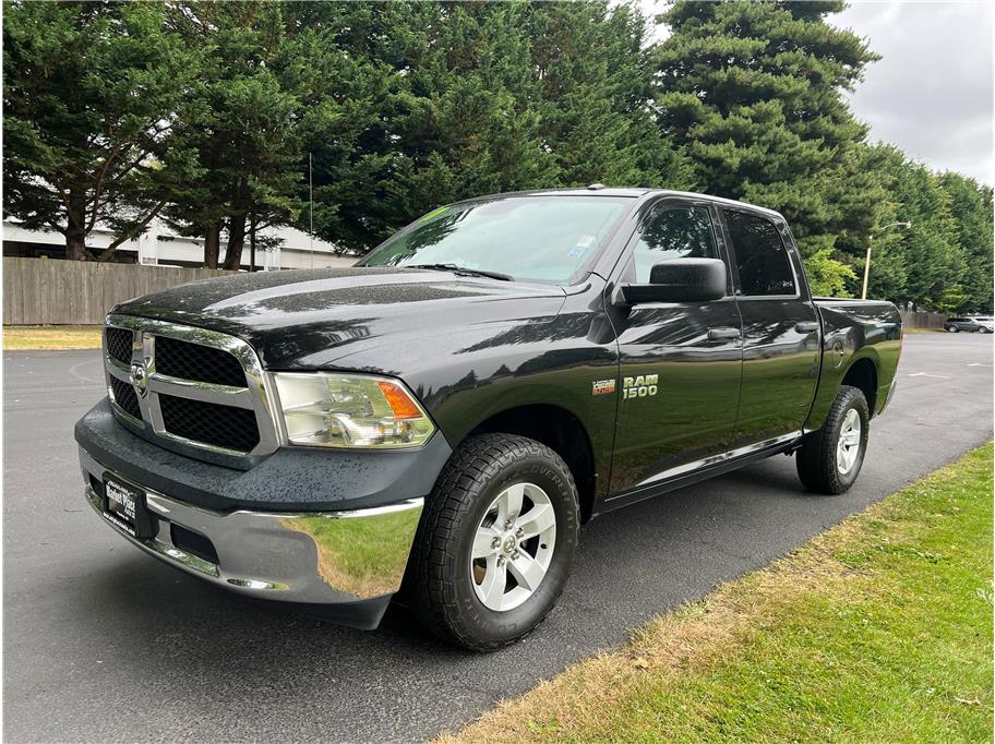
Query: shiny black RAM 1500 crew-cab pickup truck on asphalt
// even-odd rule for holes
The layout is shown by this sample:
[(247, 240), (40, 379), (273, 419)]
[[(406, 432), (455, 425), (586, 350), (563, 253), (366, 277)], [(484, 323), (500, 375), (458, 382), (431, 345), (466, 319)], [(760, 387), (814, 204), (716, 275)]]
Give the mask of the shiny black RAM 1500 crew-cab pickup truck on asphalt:
[(780, 453), (846, 491), (900, 349), (891, 303), (811, 297), (775, 212), (503, 194), (352, 268), (116, 307), (75, 437), (87, 500), (151, 555), (358, 627), (397, 595), (489, 650), (549, 613), (600, 513)]

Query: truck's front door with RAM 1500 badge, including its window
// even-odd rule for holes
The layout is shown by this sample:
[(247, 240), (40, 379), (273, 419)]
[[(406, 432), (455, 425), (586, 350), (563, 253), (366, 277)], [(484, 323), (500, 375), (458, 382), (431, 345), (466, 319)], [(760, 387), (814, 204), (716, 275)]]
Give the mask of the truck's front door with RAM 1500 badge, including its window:
[[(667, 200), (620, 262), (618, 281), (648, 283), (673, 259), (728, 257), (707, 202)], [(619, 343), (619, 415), (611, 493), (652, 485), (709, 457), (732, 439), (740, 396), (740, 315), (730, 290), (711, 302), (612, 309)]]

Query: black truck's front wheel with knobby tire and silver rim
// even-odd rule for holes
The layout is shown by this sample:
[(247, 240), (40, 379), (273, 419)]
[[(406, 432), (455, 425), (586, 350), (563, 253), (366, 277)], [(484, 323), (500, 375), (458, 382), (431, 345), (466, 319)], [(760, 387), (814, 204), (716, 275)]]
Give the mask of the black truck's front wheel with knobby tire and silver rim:
[[(553, 609), (570, 576), (579, 514), (574, 478), (555, 452), (511, 434), (468, 439), (427, 501), (408, 561), (407, 596), (421, 624), (475, 651), (493, 651), (528, 635)], [(520, 520), (512, 524), (511, 516)], [(540, 527), (544, 531), (530, 535)], [(487, 555), (475, 559), (475, 553)], [(519, 576), (531, 577), (535, 586)]]

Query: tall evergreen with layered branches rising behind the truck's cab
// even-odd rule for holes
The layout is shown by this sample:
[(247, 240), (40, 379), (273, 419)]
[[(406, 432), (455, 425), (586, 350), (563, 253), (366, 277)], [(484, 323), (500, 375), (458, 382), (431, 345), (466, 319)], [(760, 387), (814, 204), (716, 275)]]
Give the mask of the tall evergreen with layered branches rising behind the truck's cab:
[[(866, 128), (843, 98), (876, 59), (825, 21), (843, 3), (676, 2), (657, 51), (664, 132), (704, 190), (783, 213), (819, 293), (855, 278), (837, 240), (876, 221), (884, 184), (859, 167)], [(860, 200), (839, 196), (861, 193)]]

